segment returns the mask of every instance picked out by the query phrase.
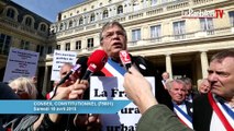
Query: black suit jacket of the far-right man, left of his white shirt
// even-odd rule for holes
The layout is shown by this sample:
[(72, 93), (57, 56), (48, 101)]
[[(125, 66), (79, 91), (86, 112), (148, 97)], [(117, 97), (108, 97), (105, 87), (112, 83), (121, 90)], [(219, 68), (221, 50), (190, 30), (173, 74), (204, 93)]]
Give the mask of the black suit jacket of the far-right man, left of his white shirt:
[(208, 95), (201, 95), (193, 100), (193, 129), (196, 131), (209, 131), (213, 109)]

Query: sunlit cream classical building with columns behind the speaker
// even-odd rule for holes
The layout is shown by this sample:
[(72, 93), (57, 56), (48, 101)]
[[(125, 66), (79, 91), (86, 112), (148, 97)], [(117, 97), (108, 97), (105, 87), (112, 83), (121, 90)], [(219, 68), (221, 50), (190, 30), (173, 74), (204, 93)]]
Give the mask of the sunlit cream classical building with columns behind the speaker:
[(124, 25), (132, 55), (193, 84), (207, 76), (213, 53), (234, 48), (233, 0), (87, 0), (60, 12), (51, 32), (57, 49), (87, 56), (109, 21)]

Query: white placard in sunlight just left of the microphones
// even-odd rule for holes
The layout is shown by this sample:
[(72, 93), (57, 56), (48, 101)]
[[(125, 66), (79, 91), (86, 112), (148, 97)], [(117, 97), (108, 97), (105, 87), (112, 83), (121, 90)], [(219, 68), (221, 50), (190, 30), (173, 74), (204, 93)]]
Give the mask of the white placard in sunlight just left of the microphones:
[(77, 60), (77, 52), (74, 51), (63, 51), (63, 50), (55, 50), (53, 57), (53, 67), (52, 67), (52, 81), (59, 81), (59, 70), (60, 67), (65, 62), (69, 62), (75, 64)]

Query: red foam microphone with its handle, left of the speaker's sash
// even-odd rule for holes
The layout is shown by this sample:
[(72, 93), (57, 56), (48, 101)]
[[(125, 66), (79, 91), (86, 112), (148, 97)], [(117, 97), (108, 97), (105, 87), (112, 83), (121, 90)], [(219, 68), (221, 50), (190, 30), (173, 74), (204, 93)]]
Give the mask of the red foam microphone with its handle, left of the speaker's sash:
[(100, 71), (108, 61), (108, 55), (103, 50), (93, 51), (87, 62), (87, 70), (81, 80), (88, 80), (94, 72)]

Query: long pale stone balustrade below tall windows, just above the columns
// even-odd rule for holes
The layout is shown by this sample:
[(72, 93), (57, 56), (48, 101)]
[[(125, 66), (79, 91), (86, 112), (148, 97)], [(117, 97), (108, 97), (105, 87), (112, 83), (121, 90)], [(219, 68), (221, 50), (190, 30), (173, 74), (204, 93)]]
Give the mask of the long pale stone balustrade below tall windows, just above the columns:
[[(202, 40), (205, 38), (216, 38), (219, 36), (227, 36), (227, 35), (233, 35), (234, 34), (234, 28), (233, 27), (224, 27), (224, 28), (215, 28), (212, 31), (199, 31), (199, 32), (193, 32), (193, 33), (186, 33), (181, 35), (165, 35), (160, 37), (155, 37), (155, 38), (147, 38), (147, 39), (140, 39), (137, 41), (129, 41), (127, 47), (129, 49), (131, 48), (142, 48), (142, 47), (147, 47), (147, 46), (167, 46), (168, 44), (177, 44), (175, 41), (181, 41), (179, 44), (182, 44), (183, 40)], [(79, 55), (89, 55), (93, 50), (100, 48), (100, 46), (96, 46), (92, 48), (82, 48), (78, 50), (73, 50), (73, 51), (78, 51)], [(52, 59), (53, 53), (47, 55), (46, 59)]]

